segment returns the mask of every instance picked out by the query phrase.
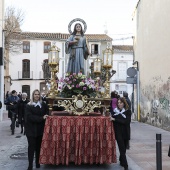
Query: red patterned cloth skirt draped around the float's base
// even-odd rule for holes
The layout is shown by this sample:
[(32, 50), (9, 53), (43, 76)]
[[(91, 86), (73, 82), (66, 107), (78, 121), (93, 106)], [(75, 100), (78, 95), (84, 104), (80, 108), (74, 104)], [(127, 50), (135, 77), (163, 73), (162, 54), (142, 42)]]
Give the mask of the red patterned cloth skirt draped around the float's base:
[(104, 116), (49, 116), (40, 164), (116, 163), (112, 122)]

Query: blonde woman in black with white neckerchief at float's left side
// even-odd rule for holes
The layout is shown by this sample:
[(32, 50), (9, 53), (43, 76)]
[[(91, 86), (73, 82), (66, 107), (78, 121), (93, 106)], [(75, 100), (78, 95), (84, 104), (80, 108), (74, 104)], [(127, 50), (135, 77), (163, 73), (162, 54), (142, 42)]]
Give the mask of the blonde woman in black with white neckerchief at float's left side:
[(39, 156), (42, 136), (44, 132), (45, 119), (48, 117), (49, 109), (45, 102), (40, 100), (40, 91), (34, 90), (32, 100), (26, 105), (25, 110), (25, 132), (28, 140), (27, 170), (32, 170), (34, 152), (36, 153), (36, 168), (40, 168)]

